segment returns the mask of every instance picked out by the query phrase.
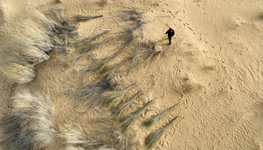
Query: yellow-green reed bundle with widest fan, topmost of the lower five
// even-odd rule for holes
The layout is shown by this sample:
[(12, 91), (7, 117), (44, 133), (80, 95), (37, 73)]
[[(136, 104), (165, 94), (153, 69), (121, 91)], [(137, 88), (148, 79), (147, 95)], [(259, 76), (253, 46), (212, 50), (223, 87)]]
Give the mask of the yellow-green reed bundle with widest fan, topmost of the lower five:
[(110, 109), (115, 109), (122, 100), (124, 94), (136, 85), (138, 85), (138, 83), (134, 83), (132, 86), (120, 91), (106, 91), (101, 94), (101, 100), (107, 103)]

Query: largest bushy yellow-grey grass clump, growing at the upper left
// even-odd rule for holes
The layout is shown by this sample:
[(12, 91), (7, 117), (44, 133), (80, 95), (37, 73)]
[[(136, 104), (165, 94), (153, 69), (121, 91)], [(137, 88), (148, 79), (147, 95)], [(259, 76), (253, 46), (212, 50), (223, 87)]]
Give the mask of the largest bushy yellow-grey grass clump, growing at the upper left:
[(34, 65), (50, 58), (47, 53), (65, 50), (65, 38), (73, 37), (76, 27), (64, 9), (34, 11), (34, 20), (26, 20), (8, 30), (0, 47), (0, 71), (12, 83), (34, 80)]

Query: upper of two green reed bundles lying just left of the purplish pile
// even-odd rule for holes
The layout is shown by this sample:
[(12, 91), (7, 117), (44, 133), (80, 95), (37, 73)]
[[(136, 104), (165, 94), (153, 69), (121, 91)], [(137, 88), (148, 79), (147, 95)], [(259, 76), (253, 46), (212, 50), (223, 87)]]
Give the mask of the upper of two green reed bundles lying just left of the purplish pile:
[(113, 59), (115, 58), (119, 53), (121, 53), (122, 51), (124, 51), (126, 49), (126, 47), (124, 47), (123, 49), (119, 50), (118, 52), (108, 56), (108, 57), (104, 57), (102, 59), (99, 59), (97, 62), (95, 62), (94, 64), (94, 71), (96, 73), (100, 73), (103, 68), (105, 68), (107, 66), (107, 64)]

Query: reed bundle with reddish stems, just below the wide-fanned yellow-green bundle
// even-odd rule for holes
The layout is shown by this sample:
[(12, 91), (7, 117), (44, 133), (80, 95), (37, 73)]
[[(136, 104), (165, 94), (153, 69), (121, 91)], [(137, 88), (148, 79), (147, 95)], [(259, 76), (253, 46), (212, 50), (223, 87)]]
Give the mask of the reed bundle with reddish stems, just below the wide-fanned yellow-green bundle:
[(116, 121), (118, 119), (120, 119), (121, 117), (123, 117), (123, 115), (125, 114), (125, 112), (127, 111), (127, 109), (130, 107), (131, 103), (133, 102), (133, 100), (135, 98), (137, 98), (138, 96), (140, 96), (140, 94), (143, 93), (143, 91), (140, 91), (138, 94), (136, 94), (133, 98), (123, 102), (122, 104), (120, 104), (118, 107), (116, 107), (112, 112), (111, 112), (111, 116), (110, 116), (110, 120), (112, 121)]

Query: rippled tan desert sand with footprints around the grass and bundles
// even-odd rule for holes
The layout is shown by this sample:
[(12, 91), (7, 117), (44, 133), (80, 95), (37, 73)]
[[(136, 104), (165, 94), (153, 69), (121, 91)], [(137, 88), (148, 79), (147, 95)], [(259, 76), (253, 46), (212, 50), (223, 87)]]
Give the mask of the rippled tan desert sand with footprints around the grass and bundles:
[[(154, 102), (135, 122), (139, 144), (134, 149), (145, 149), (145, 137), (181, 116), (170, 126), (154, 146), (154, 150), (176, 149), (263, 149), (263, 4), (256, 0), (173, 0), (173, 1), (112, 1), (106, 7), (95, 0), (1, 0), (1, 38), (8, 36), (6, 29), (32, 16), (32, 10), (65, 8), (67, 15), (83, 13), (87, 16), (104, 14), (79, 23), (78, 38), (89, 37), (110, 30), (95, 39), (112, 37), (120, 27), (111, 17), (116, 10), (136, 9), (143, 12), (147, 23), (145, 36), (118, 55), (111, 64), (123, 61), (133, 53), (138, 42), (153, 41), (161, 49), (168, 44), (165, 32), (173, 28), (175, 35), (168, 55), (152, 66), (137, 67), (127, 75), (129, 63), (115, 71), (117, 89), (137, 82), (138, 86), (125, 94), (123, 101), (140, 90), (144, 93), (134, 100), (126, 115)], [(10, 113), (12, 96), (19, 90), (43, 91), (55, 108), (55, 125), (78, 123), (87, 132), (96, 130), (93, 119), (107, 117), (105, 107), (89, 109), (81, 118), (84, 108), (75, 109), (72, 92), (79, 88), (79, 79), (73, 75), (87, 68), (91, 61), (112, 54), (115, 43), (108, 42), (93, 51), (78, 65), (63, 70), (59, 63), (61, 53), (53, 51), (51, 58), (36, 65), (37, 77), (24, 84), (8, 83), (1, 77), (1, 117)], [(1, 55), (1, 52), (0, 52)], [(89, 76), (86, 83), (92, 81)], [(154, 86), (155, 84), (155, 86)], [(154, 89), (153, 89), (154, 87)], [(152, 128), (142, 126), (150, 116), (163, 112), (176, 103), (181, 105), (164, 116)], [(84, 106), (82, 106), (84, 107)], [(72, 115), (73, 113), (73, 115)], [(45, 149), (63, 149), (63, 141), (54, 140)]]

